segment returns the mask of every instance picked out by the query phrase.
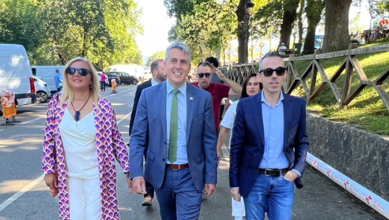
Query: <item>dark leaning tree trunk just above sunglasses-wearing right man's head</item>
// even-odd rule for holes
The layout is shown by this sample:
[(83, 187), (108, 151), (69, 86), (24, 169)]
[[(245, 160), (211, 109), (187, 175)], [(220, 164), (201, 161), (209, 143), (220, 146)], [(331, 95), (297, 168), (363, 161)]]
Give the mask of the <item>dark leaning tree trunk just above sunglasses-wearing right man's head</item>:
[(282, 43), (287, 48), (290, 46), (290, 36), (293, 31), (293, 24), (297, 18), (297, 7), (300, 0), (289, 0), (284, 3), (284, 16), (281, 24), (281, 37), (279, 47)]

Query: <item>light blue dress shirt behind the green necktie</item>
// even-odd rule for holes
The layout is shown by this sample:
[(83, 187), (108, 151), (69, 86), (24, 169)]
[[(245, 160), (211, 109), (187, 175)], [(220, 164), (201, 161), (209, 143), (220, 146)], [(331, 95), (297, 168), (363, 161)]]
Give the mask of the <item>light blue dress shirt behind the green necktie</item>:
[[(166, 80), (166, 163), (171, 164), (168, 159), (169, 155), (169, 139), (170, 139), (170, 116), (172, 112), (173, 86)], [(178, 138), (177, 138), (177, 160), (174, 164), (188, 163), (188, 156), (186, 154), (186, 82), (177, 93), (178, 99)]]

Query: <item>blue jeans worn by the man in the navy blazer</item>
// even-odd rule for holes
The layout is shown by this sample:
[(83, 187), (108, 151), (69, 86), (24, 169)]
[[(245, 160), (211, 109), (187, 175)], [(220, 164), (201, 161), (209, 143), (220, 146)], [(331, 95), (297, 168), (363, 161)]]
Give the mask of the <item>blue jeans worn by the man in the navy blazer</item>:
[(265, 212), (269, 220), (292, 219), (293, 182), (284, 177), (259, 174), (252, 190), (244, 197), (247, 220), (263, 220)]

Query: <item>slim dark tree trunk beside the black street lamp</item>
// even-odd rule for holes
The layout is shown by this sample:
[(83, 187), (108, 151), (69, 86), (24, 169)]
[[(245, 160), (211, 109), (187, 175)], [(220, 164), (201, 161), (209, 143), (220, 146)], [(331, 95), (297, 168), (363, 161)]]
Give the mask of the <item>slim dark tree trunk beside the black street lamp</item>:
[(247, 20), (248, 16), (246, 14), (245, 4), (248, 0), (240, 0), (238, 9), (235, 11), (236, 16), (238, 18), (238, 29), (237, 29), (237, 37), (238, 37), (238, 63), (244, 64), (247, 60)]

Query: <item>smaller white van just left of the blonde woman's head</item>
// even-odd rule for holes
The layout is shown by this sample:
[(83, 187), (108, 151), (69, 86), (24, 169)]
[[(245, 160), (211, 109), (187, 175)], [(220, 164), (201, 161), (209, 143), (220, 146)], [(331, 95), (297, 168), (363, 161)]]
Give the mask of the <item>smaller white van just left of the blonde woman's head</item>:
[(55, 86), (55, 70), (60, 70), (62, 78), (64, 78), (64, 67), (65, 66), (33, 66), (33, 76), (41, 77), (50, 87), (51, 93), (57, 92)]

